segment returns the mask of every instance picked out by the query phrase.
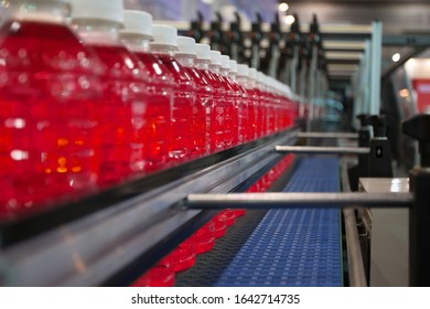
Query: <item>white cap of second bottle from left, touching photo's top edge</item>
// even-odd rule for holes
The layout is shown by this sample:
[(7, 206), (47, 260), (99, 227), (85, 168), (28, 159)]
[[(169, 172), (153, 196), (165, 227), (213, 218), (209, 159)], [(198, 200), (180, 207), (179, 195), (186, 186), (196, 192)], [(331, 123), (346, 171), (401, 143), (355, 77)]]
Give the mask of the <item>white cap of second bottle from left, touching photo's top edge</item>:
[(72, 19), (93, 19), (122, 24), (122, 0), (72, 0)]

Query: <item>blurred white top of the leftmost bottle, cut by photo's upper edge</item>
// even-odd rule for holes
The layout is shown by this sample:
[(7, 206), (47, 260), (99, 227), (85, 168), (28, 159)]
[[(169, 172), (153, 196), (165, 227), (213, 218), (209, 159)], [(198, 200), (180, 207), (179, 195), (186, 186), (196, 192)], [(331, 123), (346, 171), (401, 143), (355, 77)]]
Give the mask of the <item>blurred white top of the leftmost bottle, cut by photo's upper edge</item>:
[(9, 15), (17, 20), (64, 23), (71, 6), (55, 0), (10, 1)]

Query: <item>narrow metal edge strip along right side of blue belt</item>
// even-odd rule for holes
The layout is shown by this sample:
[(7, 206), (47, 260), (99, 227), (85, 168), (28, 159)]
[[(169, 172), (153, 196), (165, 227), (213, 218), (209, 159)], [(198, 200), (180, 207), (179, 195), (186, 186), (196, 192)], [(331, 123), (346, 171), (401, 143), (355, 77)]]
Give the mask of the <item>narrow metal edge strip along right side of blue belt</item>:
[[(347, 175), (347, 161), (341, 160), (341, 181), (343, 192), (351, 192), (350, 179)], [(348, 258), (350, 286), (367, 287), (366, 271), (359, 244), (357, 219), (354, 209), (344, 209), (346, 254)]]

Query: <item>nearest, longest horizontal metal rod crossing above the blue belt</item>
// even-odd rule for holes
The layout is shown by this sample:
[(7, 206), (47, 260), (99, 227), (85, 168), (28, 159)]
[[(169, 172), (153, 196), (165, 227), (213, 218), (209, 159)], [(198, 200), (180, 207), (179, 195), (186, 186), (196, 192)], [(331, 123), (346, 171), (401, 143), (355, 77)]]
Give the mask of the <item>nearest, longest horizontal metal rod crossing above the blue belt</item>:
[(228, 193), (190, 194), (183, 209), (408, 207), (411, 193)]

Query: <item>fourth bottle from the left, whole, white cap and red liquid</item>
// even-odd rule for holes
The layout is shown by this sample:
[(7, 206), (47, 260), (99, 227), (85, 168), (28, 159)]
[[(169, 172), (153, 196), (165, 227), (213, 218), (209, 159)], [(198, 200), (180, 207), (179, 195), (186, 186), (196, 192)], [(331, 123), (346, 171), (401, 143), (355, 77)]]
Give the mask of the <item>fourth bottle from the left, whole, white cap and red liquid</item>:
[(194, 145), (192, 115), (196, 86), (190, 74), (174, 57), (178, 49), (178, 30), (170, 25), (154, 24), (153, 36), (151, 50), (169, 70), (174, 82), (173, 139), (170, 147), (170, 158), (176, 163), (184, 162), (191, 158)]

